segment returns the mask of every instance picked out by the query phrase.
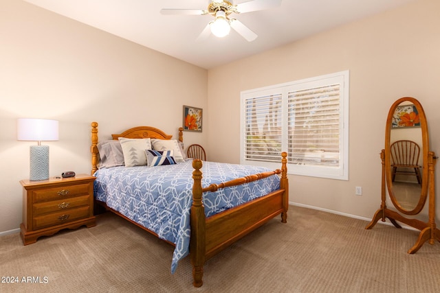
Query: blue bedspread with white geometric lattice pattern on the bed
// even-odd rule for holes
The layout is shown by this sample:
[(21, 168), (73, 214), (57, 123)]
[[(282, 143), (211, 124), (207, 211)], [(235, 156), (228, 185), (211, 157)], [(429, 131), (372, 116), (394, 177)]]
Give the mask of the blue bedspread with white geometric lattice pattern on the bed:
[[(94, 194), (96, 200), (175, 244), (171, 272), (179, 259), (189, 253), (190, 207), (192, 204), (192, 161), (157, 167), (112, 167), (99, 169)], [(235, 178), (271, 171), (265, 167), (203, 162), (202, 187)], [(240, 186), (203, 194), (206, 217), (259, 198), (279, 189), (273, 175)]]

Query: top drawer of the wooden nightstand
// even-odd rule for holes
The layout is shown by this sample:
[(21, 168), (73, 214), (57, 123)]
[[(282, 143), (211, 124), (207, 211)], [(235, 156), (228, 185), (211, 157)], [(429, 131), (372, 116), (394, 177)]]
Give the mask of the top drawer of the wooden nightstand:
[(49, 200), (63, 200), (80, 195), (89, 194), (89, 184), (69, 185), (56, 188), (46, 188), (34, 191), (34, 203)]

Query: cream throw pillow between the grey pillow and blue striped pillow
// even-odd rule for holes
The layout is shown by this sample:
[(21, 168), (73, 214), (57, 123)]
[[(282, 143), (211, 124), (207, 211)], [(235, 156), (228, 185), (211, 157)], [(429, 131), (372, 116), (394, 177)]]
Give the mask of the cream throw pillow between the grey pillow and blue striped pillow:
[(146, 165), (145, 150), (151, 150), (150, 139), (126, 139), (120, 137), (125, 167)]

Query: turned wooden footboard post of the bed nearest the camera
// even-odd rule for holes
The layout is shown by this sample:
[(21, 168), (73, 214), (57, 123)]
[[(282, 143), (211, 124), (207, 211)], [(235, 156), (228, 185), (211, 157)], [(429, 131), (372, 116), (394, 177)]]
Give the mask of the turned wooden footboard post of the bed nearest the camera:
[(200, 287), (203, 285), (203, 265), (205, 263), (205, 207), (201, 200), (201, 160), (196, 159), (192, 161), (192, 179), (194, 185), (192, 186), (192, 206), (190, 213), (191, 222), (191, 237), (190, 237), (190, 257), (192, 263), (192, 285)]

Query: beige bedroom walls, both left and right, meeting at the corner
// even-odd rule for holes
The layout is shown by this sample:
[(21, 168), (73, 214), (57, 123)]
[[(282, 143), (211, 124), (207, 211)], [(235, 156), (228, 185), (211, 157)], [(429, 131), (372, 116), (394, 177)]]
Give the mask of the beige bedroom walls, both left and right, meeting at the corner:
[[(33, 143), (16, 140), (18, 117), (60, 121), (60, 141), (45, 143), (51, 176), (89, 172), (91, 121), (100, 123), (100, 137), (140, 124), (176, 135), (184, 104), (205, 114), (203, 132), (185, 132), (186, 143), (206, 145), (212, 160), (239, 163), (240, 91), (346, 69), (349, 181), (290, 176), (290, 200), (371, 218), (380, 207), (379, 153), (395, 99), (419, 99), (431, 149), (440, 153), (439, 11), (440, 1), (416, 1), (206, 71), (28, 3), (1, 0), (0, 233), (19, 227), (19, 180), (29, 176)], [(354, 195), (355, 186), (362, 196)]]

